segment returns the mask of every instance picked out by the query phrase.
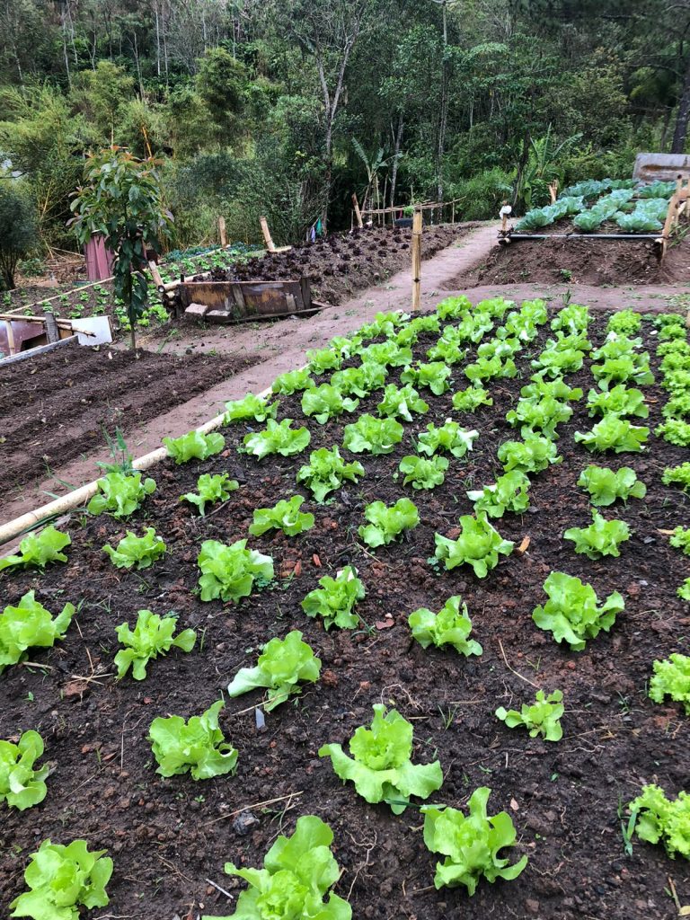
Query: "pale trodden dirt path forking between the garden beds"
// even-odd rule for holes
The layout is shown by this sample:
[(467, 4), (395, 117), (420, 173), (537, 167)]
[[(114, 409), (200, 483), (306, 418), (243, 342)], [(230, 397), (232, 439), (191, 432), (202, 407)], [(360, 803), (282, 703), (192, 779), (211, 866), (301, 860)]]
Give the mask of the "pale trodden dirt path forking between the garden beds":
[[(478, 260), (487, 257), (491, 247), (495, 245), (496, 233), (497, 224), (481, 224), (453, 246), (443, 249), (422, 263), (422, 309), (431, 308), (443, 297), (459, 293), (466, 293), (473, 303), (500, 295), (518, 301), (543, 297), (548, 302), (558, 303), (569, 292), (571, 300), (575, 303), (600, 308), (622, 305), (649, 311), (669, 309), (674, 305), (673, 299), (679, 295), (690, 298), (690, 285), (657, 284), (602, 288), (566, 283), (524, 283), (508, 287), (482, 286), (466, 292), (445, 290), (444, 285), (462, 271), (468, 270)], [(304, 363), (305, 351), (328, 344), (334, 335), (346, 334), (359, 328), (378, 311), (407, 306), (410, 291), (411, 271), (406, 269), (393, 275), (385, 284), (369, 288), (351, 301), (324, 310), (316, 316), (233, 328), (190, 328), (181, 332), (167, 343), (166, 353), (232, 354), (234, 360), (243, 353), (247, 357), (259, 354), (261, 362), (231, 379), (219, 382), (201, 395), (132, 431), (128, 438), (132, 454), (146, 454), (160, 445), (161, 438), (167, 435), (177, 437), (185, 431), (190, 431), (221, 411), (228, 399), (243, 397), (247, 391), (258, 392), (264, 389), (278, 374)], [(677, 301), (675, 305), (679, 305)], [(143, 348), (154, 347), (159, 345), (159, 341), (153, 337), (150, 341), (142, 337), (140, 344)], [(106, 459), (108, 454), (104, 448), (56, 469), (51, 479), (6, 495), (2, 502), (0, 520), (11, 520), (50, 500), (56, 494), (63, 494), (68, 490), (65, 484), (77, 487), (89, 482), (97, 474), (96, 462)]]

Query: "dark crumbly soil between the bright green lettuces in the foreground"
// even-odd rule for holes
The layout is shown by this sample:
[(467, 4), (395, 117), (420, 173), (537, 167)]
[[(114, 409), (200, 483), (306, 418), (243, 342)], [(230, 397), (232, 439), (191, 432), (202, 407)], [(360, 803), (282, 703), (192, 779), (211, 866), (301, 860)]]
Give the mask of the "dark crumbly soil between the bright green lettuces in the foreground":
[[(595, 344), (604, 337), (604, 324), (601, 316), (592, 322)], [(653, 347), (654, 339), (647, 340)], [(418, 354), (430, 342), (420, 341)], [(523, 352), (519, 366), (525, 376), (538, 350), (535, 343)], [(391, 379), (396, 376), (393, 372)], [(455, 388), (466, 385), (460, 370), (454, 378)], [(592, 385), (587, 370), (569, 381), (585, 392)], [(51, 670), (14, 667), (0, 678), (0, 736), (40, 730), (46, 759), (55, 765), (40, 806), (3, 812), (0, 912), (22, 891), (29, 853), (50, 836), (55, 842), (85, 837), (114, 858), (108, 912), (98, 916), (231, 914), (234, 902), (207, 880), (236, 897), (241, 884), (224, 876), (224, 862), (259, 866), (276, 834), (292, 832), (302, 814), (317, 814), (332, 826), (344, 869), (337, 890), (349, 897), (356, 918), (665, 918), (675, 914), (666, 893), (669, 876), (680, 902), (690, 902), (688, 863), (671, 862), (660, 846), (637, 840), (633, 856), (626, 857), (617, 813), (643, 783), (658, 781), (670, 795), (687, 788), (688, 720), (680, 707), (655, 705), (646, 696), (651, 662), (688, 650), (690, 616), (675, 596), (687, 564), (659, 532), (688, 523), (687, 500), (677, 489), (661, 486), (664, 466), (683, 461), (687, 452), (651, 437), (643, 454), (598, 458), (614, 468), (633, 466), (648, 494), (646, 500), (605, 511), (632, 529), (620, 558), (592, 562), (578, 556), (561, 535), (589, 520), (586, 496), (575, 483), (581, 469), (597, 458), (573, 441), (574, 431), (592, 424), (581, 402), (559, 429), (563, 463), (534, 479), (530, 511), (498, 522), (509, 539), (530, 537), (526, 555), (501, 560), (483, 581), (465, 568), (436, 574), (427, 562), (434, 532), (448, 534), (458, 515), (471, 511), (466, 489), (493, 481), (496, 449), (512, 436), (505, 413), (522, 384), (494, 381), (489, 385), (493, 408), (476, 416), (454, 413), (450, 393), (425, 393), (431, 410), (406, 426), (406, 439), (395, 454), (361, 456), (366, 475), (359, 485), (340, 489), (326, 505), (305, 502), (305, 510), (316, 515), (312, 530), (293, 538), (250, 538), (249, 546), (273, 556), (277, 580), (272, 590), (238, 606), (202, 604), (195, 596), (201, 540), (230, 543), (246, 536), (254, 508), (301, 491), (295, 489), (295, 471), (307, 458), (259, 464), (238, 454), (244, 426), (224, 431), (222, 456), (183, 467), (167, 462), (152, 471), (158, 488), (132, 521), (137, 530), (144, 523), (155, 525), (166, 539), (167, 556), (152, 569), (114, 569), (100, 547), (117, 540), (123, 525), (75, 515), (66, 565), (40, 578), (2, 577), (10, 603), (35, 588), (40, 601), (53, 608), (67, 600), (83, 606), (78, 627), (73, 624), (59, 649), (32, 652), (33, 661)], [(664, 394), (656, 385), (647, 393), (653, 428)], [(375, 411), (379, 398), (362, 401), (360, 411)], [(298, 398), (285, 399), (285, 415), (303, 420)], [(451, 460), (442, 487), (422, 493), (404, 489), (393, 477), (400, 457), (414, 451), (413, 433), (452, 415), (480, 431), (475, 450)], [(306, 424), (310, 448), (341, 442), (339, 423)], [(200, 473), (223, 470), (241, 488), (213, 514), (199, 519), (178, 502)], [(356, 536), (364, 505), (404, 493), (420, 509), (420, 525), (398, 545), (364, 552)], [(327, 633), (301, 610), (318, 578), (349, 562), (367, 589), (359, 609), (373, 627), (370, 635), (366, 630)], [(600, 597), (615, 590), (625, 597), (626, 611), (610, 634), (601, 634), (581, 653), (561, 648), (532, 621), (535, 605), (545, 600), (542, 584), (551, 569), (591, 581)], [(484, 647), (481, 658), (424, 651), (410, 639), (408, 614), (422, 605), (439, 609), (454, 593), (468, 605), (473, 634)], [(112, 673), (114, 629), (124, 620), (133, 623), (144, 607), (177, 611), (179, 627), (199, 631), (202, 649), (190, 655), (173, 651), (152, 663), (143, 684), (130, 678), (115, 684), (111, 676), (86, 683), (75, 677)], [(393, 626), (379, 628), (387, 625), (386, 615)], [(264, 732), (256, 730), (254, 711), (247, 711), (259, 702), (258, 692), (227, 702), (221, 725), (240, 752), (237, 776), (199, 783), (189, 775), (156, 776), (146, 741), (151, 721), (167, 713), (185, 718), (200, 713), (239, 667), (256, 660), (261, 643), (293, 628), (304, 631), (321, 658), (321, 680), (267, 716)], [(535, 687), (515, 672), (547, 691), (564, 692), (561, 742), (531, 740), (495, 719), (497, 706), (519, 707), (533, 698)], [(368, 805), (350, 785), (341, 785), (328, 761), (319, 760), (321, 744), (345, 742), (370, 721), (371, 707), (380, 701), (395, 704), (413, 720), (415, 762), (440, 759), (444, 782), (434, 801), (464, 807), (473, 789), (487, 785), (493, 790), (490, 812), (511, 812), (518, 831), (511, 856), (530, 858), (518, 880), (493, 886), (482, 881), (472, 899), (464, 889), (434, 891), (436, 858), (424, 847), (418, 811), (410, 808), (397, 818), (385, 805)], [(292, 799), (262, 804), (291, 794)], [(236, 811), (247, 807), (256, 819), (249, 828), (235, 820)]]

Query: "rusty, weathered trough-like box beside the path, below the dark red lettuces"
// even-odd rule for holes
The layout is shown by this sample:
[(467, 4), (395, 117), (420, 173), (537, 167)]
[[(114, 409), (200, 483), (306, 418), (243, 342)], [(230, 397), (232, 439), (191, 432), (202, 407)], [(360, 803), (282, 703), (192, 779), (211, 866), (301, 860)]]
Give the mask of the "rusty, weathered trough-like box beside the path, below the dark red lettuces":
[(243, 323), (298, 316), (326, 304), (312, 299), (308, 278), (284, 282), (179, 282), (178, 312), (207, 323)]

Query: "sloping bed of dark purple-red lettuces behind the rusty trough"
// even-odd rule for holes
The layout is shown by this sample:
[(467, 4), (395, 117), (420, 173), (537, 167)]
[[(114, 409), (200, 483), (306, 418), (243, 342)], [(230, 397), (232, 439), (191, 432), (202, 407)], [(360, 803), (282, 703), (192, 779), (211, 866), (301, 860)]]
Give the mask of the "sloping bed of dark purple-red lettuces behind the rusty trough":
[[(477, 224), (441, 224), (424, 228), (421, 237), (422, 259), (430, 259)], [(290, 252), (267, 253), (262, 259), (227, 270), (212, 272), (212, 277), (229, 281), (285, 281), (305, 275), (312, 282), (315, 300), (338, 305), (352, 294), (373, 284), (385, 282), (411, 259), (412, 231), (403, 227), (365, 227), (351, 234), (332, 235)]]

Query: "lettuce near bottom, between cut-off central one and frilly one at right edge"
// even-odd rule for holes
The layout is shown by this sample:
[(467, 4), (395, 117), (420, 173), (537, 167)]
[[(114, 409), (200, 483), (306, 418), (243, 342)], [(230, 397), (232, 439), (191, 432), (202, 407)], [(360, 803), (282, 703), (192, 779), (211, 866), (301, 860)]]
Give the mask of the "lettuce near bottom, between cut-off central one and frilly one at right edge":
[(467, 802), (469, 814), (454, 808), (427, 805), (424, 814), (424, 843), (431, 853), (440, 853), (443, 862), (436, 863), (433, 883), (437, 889), (465, 885), (467, 894), (477, 891), (484, 878), (517, 879), (527, 865), (527, 857), (509, 865), (510, 860), (499, 857), (506, 846), (512, 846), (517, 836), (507, 811), (489, 816), (487, 802), (491, 790), (487, 786), (475, 789)]

